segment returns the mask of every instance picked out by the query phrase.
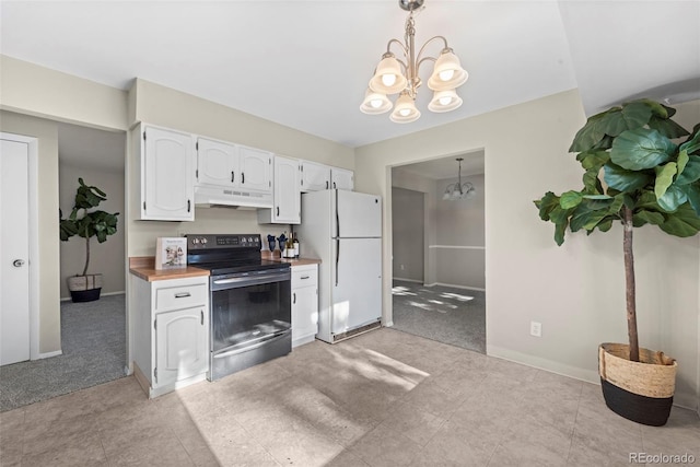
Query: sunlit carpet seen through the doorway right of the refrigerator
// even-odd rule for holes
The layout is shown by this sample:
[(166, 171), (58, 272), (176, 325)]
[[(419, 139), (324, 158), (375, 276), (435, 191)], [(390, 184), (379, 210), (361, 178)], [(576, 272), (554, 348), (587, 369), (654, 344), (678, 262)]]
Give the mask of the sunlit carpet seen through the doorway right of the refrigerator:
[(486, 293), (394, 281), (394, 328), (486, 353)]

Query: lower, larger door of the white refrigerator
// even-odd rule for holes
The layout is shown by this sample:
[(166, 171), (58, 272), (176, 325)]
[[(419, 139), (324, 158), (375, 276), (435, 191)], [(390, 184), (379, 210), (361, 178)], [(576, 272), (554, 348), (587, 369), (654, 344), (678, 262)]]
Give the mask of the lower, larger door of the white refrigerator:
[(334, 334), (374, 323), (382, 317), (382, 240), (334, 241)]

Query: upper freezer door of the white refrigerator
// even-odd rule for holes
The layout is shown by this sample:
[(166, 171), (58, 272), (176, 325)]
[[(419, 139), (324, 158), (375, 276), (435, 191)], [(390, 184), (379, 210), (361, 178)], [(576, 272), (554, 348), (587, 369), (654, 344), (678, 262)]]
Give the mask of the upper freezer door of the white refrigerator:
[(340, 238), (382, 236), (382, 198), (357, 191), (336, 190), (338, 215), (332, 235)]

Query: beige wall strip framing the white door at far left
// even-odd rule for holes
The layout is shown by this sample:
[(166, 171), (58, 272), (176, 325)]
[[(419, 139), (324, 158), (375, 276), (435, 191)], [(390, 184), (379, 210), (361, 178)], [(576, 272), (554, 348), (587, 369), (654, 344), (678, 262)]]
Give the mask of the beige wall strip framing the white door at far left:
[(0, 130), (38, 140), (38, 351), (61, 350), (58, 240), (58, 131), (56, 124), (39, 118), (0, 112)]

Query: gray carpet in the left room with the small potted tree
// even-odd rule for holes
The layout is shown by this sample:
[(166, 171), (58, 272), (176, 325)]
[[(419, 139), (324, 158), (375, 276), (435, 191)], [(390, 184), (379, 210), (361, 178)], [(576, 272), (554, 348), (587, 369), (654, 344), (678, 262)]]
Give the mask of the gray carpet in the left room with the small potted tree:
[(125, 295), (61, 303), (62, 355), (0, 366), (0, 411), (125, 376)]

